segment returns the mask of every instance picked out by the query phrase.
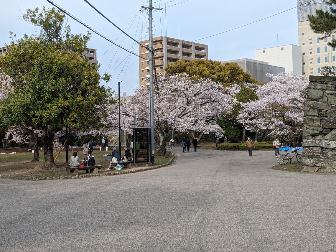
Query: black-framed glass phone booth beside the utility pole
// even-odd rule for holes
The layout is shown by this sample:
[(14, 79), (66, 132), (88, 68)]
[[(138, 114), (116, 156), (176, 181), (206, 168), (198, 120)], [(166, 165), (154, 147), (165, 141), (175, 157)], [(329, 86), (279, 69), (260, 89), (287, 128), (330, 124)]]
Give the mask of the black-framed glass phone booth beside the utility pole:
[[(135, 146), (135, 163), (150, 163), (151, 127), (134, 128), (133, 146)], [(134, 141), (133, 140), (133, 141)]]

